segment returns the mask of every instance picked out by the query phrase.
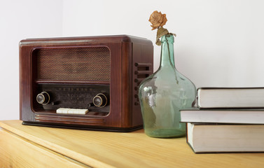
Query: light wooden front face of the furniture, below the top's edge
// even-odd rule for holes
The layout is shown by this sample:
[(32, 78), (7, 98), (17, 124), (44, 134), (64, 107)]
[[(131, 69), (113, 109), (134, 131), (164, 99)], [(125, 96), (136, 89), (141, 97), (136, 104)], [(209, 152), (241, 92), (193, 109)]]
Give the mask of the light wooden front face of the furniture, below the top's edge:
[(88, 167), (0, 128), (0, 167)]

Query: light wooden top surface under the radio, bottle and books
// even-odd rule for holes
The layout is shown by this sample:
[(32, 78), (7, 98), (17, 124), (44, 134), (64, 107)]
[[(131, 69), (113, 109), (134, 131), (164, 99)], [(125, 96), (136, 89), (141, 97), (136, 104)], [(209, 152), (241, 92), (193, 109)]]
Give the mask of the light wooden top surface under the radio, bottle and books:
[[(1, 121), (0, 126), (29, 143), (34, 142), (90, 167), (264, 167), (264, 153), (195, 154), (185, 137), (155, 139), (147, 137), (144, 130), (95, 132), (21, 123), (19, 120)], [(1, 146), (16, 143), (15, 140), (4, 141), (8, 139), (6, 136), (0, 139)]]

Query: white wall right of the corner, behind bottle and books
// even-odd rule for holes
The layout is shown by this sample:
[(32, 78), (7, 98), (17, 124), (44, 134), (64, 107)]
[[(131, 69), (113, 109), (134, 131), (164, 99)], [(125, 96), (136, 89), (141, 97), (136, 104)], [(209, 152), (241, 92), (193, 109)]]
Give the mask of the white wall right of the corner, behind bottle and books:
[[(197, 87), (264, 86), (264, 1), (64, 1), (63, 35), (130, 34), (155, 42), (149, 15), (167, 14), (176, 68)], [(155, 45), (155, 69), (160, 47)]]

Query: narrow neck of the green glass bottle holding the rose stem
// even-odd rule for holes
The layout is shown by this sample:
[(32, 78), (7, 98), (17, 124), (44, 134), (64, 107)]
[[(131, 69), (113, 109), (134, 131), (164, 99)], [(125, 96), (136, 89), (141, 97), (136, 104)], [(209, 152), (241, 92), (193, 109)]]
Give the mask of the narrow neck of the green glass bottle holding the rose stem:
[(167, 35), (162, 36), (160, 67), (173, 66), (175, 68), (173, 42), (174, 42), (173, 36), (167, 36)]

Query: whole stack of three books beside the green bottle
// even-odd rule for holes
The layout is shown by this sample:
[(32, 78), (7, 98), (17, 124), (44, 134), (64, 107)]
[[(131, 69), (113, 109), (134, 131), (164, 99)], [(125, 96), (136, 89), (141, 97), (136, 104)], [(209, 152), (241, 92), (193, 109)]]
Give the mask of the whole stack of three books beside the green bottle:
[(264, 152), (264, 87), (200, 87), (181, 122), (195, 153)]

